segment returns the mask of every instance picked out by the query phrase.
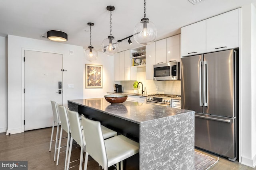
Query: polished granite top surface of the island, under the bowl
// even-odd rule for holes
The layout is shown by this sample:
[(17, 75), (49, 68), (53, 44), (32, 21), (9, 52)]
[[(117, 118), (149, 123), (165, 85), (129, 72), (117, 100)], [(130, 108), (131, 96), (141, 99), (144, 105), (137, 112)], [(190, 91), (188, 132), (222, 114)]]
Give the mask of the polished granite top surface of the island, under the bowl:
[(125, 101), (122, 104), (110, 104), (105, 98), (68, 100), (68, 102), (89, 107), (138, 124), (145, 121), (191, 112), (185, 109), (130, 101)]

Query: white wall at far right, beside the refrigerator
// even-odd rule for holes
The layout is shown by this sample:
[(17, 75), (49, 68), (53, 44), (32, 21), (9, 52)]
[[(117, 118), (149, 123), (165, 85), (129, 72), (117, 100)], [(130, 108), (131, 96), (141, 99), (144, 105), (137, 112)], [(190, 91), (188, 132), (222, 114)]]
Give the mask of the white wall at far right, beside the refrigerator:
[(256, 166), (256, 9), (250, 4), (242, 6), (240, 48), (240, 152), (241, 163)]

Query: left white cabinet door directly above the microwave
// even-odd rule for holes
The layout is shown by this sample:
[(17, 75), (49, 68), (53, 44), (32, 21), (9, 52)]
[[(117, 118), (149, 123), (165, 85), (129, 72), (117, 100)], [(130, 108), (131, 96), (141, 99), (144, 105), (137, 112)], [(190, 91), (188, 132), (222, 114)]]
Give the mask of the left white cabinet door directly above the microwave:
[(166, 38), (156, 41), (156, 64), (166, 63)]

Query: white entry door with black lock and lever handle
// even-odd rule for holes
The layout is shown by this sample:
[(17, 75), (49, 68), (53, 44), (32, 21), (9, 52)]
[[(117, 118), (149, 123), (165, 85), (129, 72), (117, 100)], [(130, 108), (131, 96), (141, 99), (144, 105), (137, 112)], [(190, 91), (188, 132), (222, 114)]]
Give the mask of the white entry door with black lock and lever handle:
[(24, 54), (24, 131), (50, 127), (50, 100), (62, 104), (62, 55), (29, 50)]

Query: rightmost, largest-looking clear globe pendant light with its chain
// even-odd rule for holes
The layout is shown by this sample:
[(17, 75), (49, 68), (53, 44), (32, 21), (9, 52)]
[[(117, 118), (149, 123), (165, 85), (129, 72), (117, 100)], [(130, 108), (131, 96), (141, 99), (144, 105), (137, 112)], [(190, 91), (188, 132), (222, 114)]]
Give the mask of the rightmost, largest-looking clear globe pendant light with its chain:
[(141, 45), (148, 45), (156, 40), (156, 26), (146, 18), (146, 0), (144, 0), (144, 18), (134, 28), (134, 39)]

